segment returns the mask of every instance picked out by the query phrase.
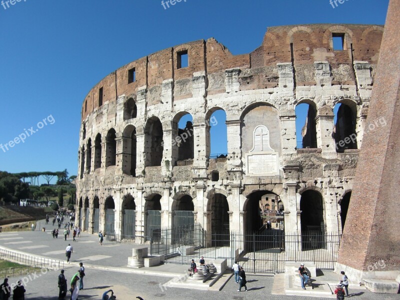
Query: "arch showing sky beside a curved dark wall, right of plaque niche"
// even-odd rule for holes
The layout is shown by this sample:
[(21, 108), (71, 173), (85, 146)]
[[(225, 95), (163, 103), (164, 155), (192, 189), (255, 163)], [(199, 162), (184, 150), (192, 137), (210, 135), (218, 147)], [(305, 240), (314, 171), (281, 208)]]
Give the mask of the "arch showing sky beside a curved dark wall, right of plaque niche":
[[(312, 103), (312, 104), (310, 104)], [(296, 148), (317, 148), (316, 109), (313, 102), (296, 105)]]

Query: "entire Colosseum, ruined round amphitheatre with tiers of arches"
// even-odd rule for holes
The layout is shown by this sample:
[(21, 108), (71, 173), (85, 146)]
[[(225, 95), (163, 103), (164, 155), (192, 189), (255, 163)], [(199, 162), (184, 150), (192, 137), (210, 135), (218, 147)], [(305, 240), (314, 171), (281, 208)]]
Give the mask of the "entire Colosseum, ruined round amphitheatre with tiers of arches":
[[(276, 26), (248, 54), (209, 38), (110, 73), (81, 110), (82, 229), (150, 243), (201, 228), (210, 233), (202, 248), (232, 247), (234, 232), (244, 236), (234, 250), (245, 253), (255, 251), (245, 236), (266, 236), (271, 219), (274, 234), (312, 243), (292, 248), (327, 248), (326, 234), (344, 225), (382, 33), (380, 25)], [(218, 121), (227, 150), (214, 154)]]

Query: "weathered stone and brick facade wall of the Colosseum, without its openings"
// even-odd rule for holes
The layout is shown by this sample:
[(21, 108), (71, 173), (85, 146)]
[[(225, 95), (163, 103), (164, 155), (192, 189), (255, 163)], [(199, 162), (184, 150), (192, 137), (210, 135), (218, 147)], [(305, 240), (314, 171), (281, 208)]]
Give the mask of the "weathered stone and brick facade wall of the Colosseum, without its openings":
[[(170, 47), (117, 69), (97, 83), (83, 102), (79, 159), (90, 157), (91, 161), (79, 161), (83, 175), (76, 180), (78, 201), (88, 197), (92, 207), (93, 198), (98, 196), (101, 210), (105, 198), (111, 195), (118, 231), (121, 199), (131, 194), (137, 210), (136, 236), (143, 241), (145, 203), (154, 194), (161, 196), (162, 226), (171, 225), (172, 203), (190, 195), (195, 220), (204, 228), (211, 228), (208, 201), (214, 194), (222, 194), (229, 205), (229, 228), (239, 230), (246, 223), (246, 197), (257, 190), (273, 192), (286, 211), (285, 229), (292, 231), (300, 228), (297, 216), (301, 193), (313, 189), (324, 201), (326, 229), (337, 231), (338, 201), (351, 190), (358, 150), (337, 153), (333, 107), (343, 103), (354, 109), (359, 147), (382, 30), (382, 26), (347, 24), (271, 27), (261, 46), (249, 54), (232, 55), (210, 38)], [(343, 50), (333, 50), (332, 34), (343, 35)], [(182, 51), (187, 51), (189, 65), (178, 68)], [(128, 83), (128, 70), (132, 68), (136, 80)], [(137, 116), (124, 119), (124, 106), (130, 98), (137, 106)], [(296, 148), (295, 106), (299, 103), (315, 108), (317, 148)], [(212, 125), (210, 115), (216, 109), (226, 112), (228, 154), (215, 160), (209, 159), (208, 129)], [(184, 113), (193, 118), (194, 155), (178, 162), (174, 139), (178, 134), (176, 123)], [(152, 125), (148, 120), (155, 117), (162, 125), (162, 158), (159, 166), (148, 166), (152, 151), (148, 139)], [(278, 154), (278, 171), (272, 176), (250, 176), (247, 172), (246, 155), (252, 149), (257, 125), (268, 128), (270, 146)], [(111, 128), (116, 132), (116, 162), (105, 167), (105, 137)], [(131, 137), (127, 132), (132, 128), (136, 130), (135, 177), (126, 170), (130, 155), (126, 145)], [(101, 167), (94, 169), (97, 134), (102, 141)], [(85, 152), (81, 152), (83, 147)], [(211, 181), (212, 170), (219, 172), (217, 181)], [(100, 227), (104, 227), (102, 217)]]

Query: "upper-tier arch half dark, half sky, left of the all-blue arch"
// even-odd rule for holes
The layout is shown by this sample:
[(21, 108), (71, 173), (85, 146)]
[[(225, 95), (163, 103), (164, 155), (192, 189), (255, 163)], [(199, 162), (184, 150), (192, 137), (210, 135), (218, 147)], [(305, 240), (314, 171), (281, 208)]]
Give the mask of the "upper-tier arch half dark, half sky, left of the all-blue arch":
[(172, 120), (172, 156), (176, 161), (193, 159), (193, 117), (186, 111), (179, 112)]

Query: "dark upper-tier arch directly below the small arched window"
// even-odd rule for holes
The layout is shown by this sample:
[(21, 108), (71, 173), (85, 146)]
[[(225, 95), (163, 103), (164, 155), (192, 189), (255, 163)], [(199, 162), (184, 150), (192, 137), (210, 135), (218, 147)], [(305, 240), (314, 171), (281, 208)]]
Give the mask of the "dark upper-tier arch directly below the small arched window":
[(132, 125), (123, 130), (122, 148), (122, 171), (124, 174), (136, 176), (136, 129)]

